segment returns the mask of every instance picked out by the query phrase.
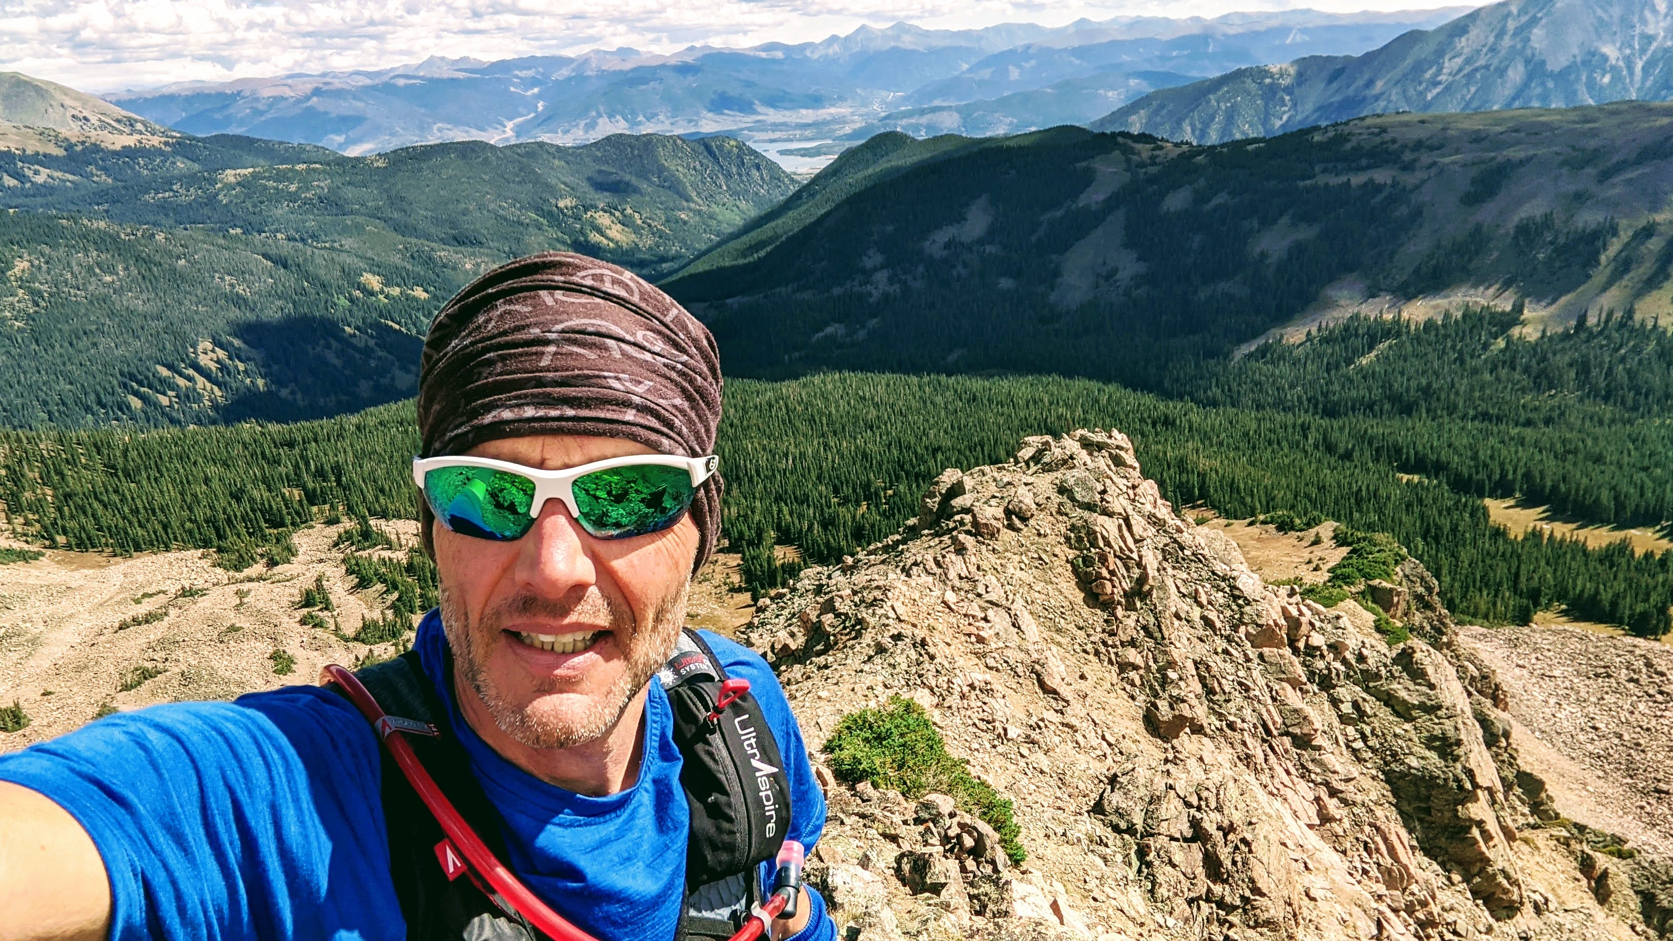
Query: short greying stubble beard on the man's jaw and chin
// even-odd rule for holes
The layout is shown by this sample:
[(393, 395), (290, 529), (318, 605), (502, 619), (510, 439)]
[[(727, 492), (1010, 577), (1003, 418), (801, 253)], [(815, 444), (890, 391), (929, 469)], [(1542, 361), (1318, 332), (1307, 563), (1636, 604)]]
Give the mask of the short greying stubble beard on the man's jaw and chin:
[(632, 611), (624, 604), (604, 599), (626, 668), (609, 688), (589, 697), (581, 708), (559, 708), (545, 702), (549, 693), (562, 692), (565, 686), (554, 681), (539, 683), (527, 702), (514, 702), (499, 688), (487, 666), (495, 641), (514, 643), (500, 633), (505, 613), (564, 618), (569, 608), (524, 594), (487, 611), (482, 623), (472, 625), (457, 593), (443, 584), (442, 625), (453, 651), (453, 670), (475, 690), (500, 732), (530, 748), (574, 748), (596, 742), (616, 728), (627, 705), (673, 655), (684, 623), (689, 589), (691, 579), (681, 579), (679, 586), (651, 611), (651, 623), (642, 626), (636, 625)]

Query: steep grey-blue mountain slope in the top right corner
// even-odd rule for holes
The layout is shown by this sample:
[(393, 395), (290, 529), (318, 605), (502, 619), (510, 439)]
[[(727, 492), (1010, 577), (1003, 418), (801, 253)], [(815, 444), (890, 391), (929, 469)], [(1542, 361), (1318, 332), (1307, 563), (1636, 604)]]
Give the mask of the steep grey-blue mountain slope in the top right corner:
[(1092, 127), (1220, 142), (1397, 111), (1668, 99), (1673, 7), (1665, 0), (1506, 0), (1365, 55), (1297, 59), (1158, 90)]

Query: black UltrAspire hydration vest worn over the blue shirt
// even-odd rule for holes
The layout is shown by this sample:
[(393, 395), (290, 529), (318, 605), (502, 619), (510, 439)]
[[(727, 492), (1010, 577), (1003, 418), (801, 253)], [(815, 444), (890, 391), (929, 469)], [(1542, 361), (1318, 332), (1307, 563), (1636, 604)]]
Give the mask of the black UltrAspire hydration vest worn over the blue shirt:
[[(447, 686), (453, 688), (453, 658), (447, 656)], [(355, 673), (407, 735), (418, 760), (482, 842), (507, 861), (500, 817), (470, 770), (448, 710), (418, 665), (418, 653)], [(726, 941), (761, 902), (756, 874), (773, 859), (790, 829), (790, 787), (778, 742), (755, 697), (744, 693), (714, 722), (716, 697), (726, 671), (714, 651), (683, 631), (674, 656), (657, 673), (674, 713), (674, 743), (683, 767), (679, 784), (691, 807), (686, 849), (686, 897), (676, 939)], [(341, 692), (336, 685), (331, 686)], [(403, 722), (405, 720), (405, 722)], [(428, 728), (435, 733), (430, 735)], [(652, 745), (646, 745), (651, 748)], [(390, 834), (390, 876), (410, 941), (544, 941), (527, 921), (495, 896), (448, 876), (442, 824), (407, 782), (400, 765), (383, 753), (383, 819)], [(622, 834), (622, 839), (636, 839)], [(468, 876), (468, 874), (467, 874)], [(564, 913), (559, 913), (564, 914)], [(617, 939), (601, 939), (617, 941)]]

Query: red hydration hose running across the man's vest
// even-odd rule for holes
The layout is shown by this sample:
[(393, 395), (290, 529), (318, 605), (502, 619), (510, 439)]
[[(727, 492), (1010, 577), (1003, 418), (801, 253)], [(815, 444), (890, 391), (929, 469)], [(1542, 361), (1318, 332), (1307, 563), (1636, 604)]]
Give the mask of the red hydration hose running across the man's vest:
[[(445, 832), (447, 839), (458, 849), (460, 854), (463, 854), (465, 866), (468, 866), (472, 876), (480, 877), (478, 886), (487, 882), (487, 887), (499, 894), (505, 904), (522, 914), (529, 924), (552, 941), (597, 941), (586, 931), (565, 921), (564, 916), (552, 911), (540, 901), (539, 896), (522, 884), (522, 879), (494, 857), (494, 851), (482, 842), (482, 837), (478, 837), (458, 810), (453, 809), (453, 802), (442, 794), (440, 787), (437, 787), (435, 779), (432, 779), (430, 772), (423, 769), (423, 764), (418, 760), (418, 755), (413, 753), (413, 747), (407, 743), (407, 738), (395, 735), (395, 732), (435, 735), (433, 728), (420, 730), (415, 722), (393, 720), (383, 712), (378, 700), (371, 697), (366, 686), (361, 685), (360, 678), (336, 663), (326, 665), (326, 668), (320, 671), (320, 685), (326, 683), (343, 686), (343, 692), (348, 693), (355, 708), (358, 708), (360, 713), (371, 722), (371, 727), (378, 732), (378, 738), (383, 740), (383, 747), (390, 750), (390, 757), (395, 758), (395, 764), (402, 769), (402, 774), (407, 775), (413, 790), (418, 792), (425, 807), (428, 807), (430, 814), (435, 815), (435, 820), (442, 824), (442, 832)], [(781, 862), (790, 846), (791, 842), (786, 841), (786, 849), (780, 852)], [(440, 852), (442, 847), (437, 849)], [(800, 896), (801, 844), (795, 844), (795, 857), (798, 884), (788, 889), (790, 892)], [(750, 913), (750, 918), (744, 921), (743, 928), (731, 936), (731, 941), (755, 941), (760, 938), (766, 933), (766, 926), (773, 921), (773, 918), (785, 911), (790, 899), (791, 894), (775, 891), (773, 896), (766, 899), (766, 904), (758, 906)]]

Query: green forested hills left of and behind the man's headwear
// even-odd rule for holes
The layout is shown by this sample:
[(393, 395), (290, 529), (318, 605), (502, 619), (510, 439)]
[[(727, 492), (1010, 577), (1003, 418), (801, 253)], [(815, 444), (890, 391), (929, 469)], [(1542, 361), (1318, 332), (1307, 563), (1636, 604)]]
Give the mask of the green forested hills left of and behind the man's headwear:
[(10, 427), (294, 420), (412, 395), (430, 316), (492, 265), (656, 275), (793, 189), (750, 147), (616, 136), (350, 159), (248, 137), (0, 149)]

